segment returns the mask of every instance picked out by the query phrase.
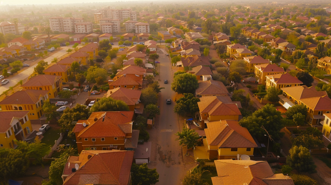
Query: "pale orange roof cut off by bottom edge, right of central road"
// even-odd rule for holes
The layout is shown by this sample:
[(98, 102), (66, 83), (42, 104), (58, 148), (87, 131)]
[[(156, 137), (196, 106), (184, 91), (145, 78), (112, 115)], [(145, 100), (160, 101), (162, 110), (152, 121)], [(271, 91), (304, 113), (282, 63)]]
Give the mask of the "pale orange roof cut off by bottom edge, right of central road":
[(226, 159), (215, 160), (214, 163), (217, 176), (212, 177), (213, 185), (294, 185), (288, 175), (274, 174), (267, 161)]

